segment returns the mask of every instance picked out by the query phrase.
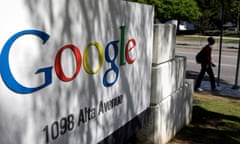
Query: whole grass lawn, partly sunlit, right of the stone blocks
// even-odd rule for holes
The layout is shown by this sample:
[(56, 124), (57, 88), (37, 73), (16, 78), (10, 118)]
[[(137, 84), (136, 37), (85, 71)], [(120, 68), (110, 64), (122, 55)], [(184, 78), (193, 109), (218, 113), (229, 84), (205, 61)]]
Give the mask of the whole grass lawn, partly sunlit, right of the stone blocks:
[(195, 93), (191, 124), (169, 144), (240, 144), (240, 99)]

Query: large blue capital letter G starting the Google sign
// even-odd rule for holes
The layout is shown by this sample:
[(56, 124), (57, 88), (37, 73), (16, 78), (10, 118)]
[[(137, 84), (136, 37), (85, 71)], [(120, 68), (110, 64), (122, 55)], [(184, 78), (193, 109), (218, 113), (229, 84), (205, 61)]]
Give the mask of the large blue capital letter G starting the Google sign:
[(38, 30), (20, 31), (8, 39), (8, 41), (3, 46), (2, 53), (0, 55), (0, 65), (1, 65), (0, 72), (1, 72), (4, 83), (12, 91), (14, 91), (16, 93), (21, 93), (21, 94), (28, 94), (28, 93), (38, 91), (52, 83), (52, 74), (51, 74), (52, 67), (41, 68), (36, 71), (35, 74), (39, 74), (42, 72), (45, 73), (45, 82), (38, 87), (34, 87), (34, 88), (25, 87), (25, 86), (21, 85), (20, 83), (18, 83), (15, 80), (15, 78), (13, 77), (12, 72), (10, 70), (10, 66), (9, 66), (9, 51), (10, 51), (12, 44), (14, 43), (14, 41), (16, 39), (18, 39), (19, 37), (21, 37), (23, 35), (27, 35), (27, 34), (32, 34), (32, 35), (36, 35), (36, 36), (40, 37), (43, 40), (43, 44), (49, 38), (49, 35), (47, 33), (38, 31)]

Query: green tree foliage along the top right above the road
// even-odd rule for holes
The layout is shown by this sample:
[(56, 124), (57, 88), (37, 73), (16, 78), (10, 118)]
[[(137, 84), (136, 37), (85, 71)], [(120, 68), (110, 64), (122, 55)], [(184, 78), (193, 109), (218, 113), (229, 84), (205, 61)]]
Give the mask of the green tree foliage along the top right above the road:
[(155, 6), (155, 18), (185, 20), (194, 23), (199, 30), (219, 29), (221, 9), (224, 23), (240, 25), (240, 0), (129, 0)]

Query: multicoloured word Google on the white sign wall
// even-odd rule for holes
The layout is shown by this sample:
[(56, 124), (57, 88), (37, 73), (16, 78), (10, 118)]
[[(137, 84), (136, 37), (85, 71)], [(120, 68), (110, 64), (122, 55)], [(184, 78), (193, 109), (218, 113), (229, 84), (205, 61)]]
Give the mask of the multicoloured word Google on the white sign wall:
[[(125, 65), (126, 62), (128, 64), (133, 64), (134, 61), (136, 60), (136, 58), (132, 58), (130, 56), (130, 51), (132, 51), (134, 48), (136, 48), (136, 40), (134, 38), (129, 39), (124, 47), (125, 26), (121, 26), (120, 30), (121, 30), (120, 56), (119, 56), (120, 66)], [(20, 31), (20, 32), (14, 34), (13, 36), (11, 36), (7, 40), (7, 42), (5, 43), (5, 45), (2, 48), (2, 52), (0, 54), (0, 66), (1, 66), (0, 73), (1, 73), (1, 76), (3, 79), (3, 82), (10, 90), (12, 90), (16, 93), (20, 93), (20, 94), (28, 94), (28, 93), (36, 92), (40, 89), (47, 87), (48, 85), (50, 85), (52, 83), (53, 66), (40, 68), (36, 71), (35, 74), (44, 73), (44, 83), (37, 87), (23, 86), (22, 84), (20, 84), (19, 82), (16, 81), (16, 79), (14, 78), (14, 76), (11, 72), (11, 69), (9, 66), (10, 49), (11, 49), (14, 41), (16, 41), (19, 37), (22, 37), (24, 35), (29, 35), (29, 34), (35, 35), (35, 36), (41, 38), (41, 40), (43, 41), (43, 44), (45, 44), (50, 37), (47, 33), (43, 32), (43, 31), (39, 31), (39, 30), (33, 29), (33, 30)], [(55, 57), (54, 69), (55, 69), (56, 75), (58, 76), (58, 78), (61, 81), (64, 81), (64, 82), (72, 81), (79, 74), (82, 64), (83, 64), (85, 71), (88, 74), (96, 74), (100, 71), (100, 69), (104, 63), (104, 57), (105, 57), (105, 60), (108, 63), (110, 63), (111, 67), (108, 70), (106, 70), (106, 72), (103, 75), (103, 85), (105, 87), (110, 87), (110, 86), (114, 85), (114, 83), (116, 83), (116, 81), (118, 80), (118, 76), (119, 76), (119, 68), (118, 68), (118, 65), (115, 63), (117, 56), (118, 56), (118, 50), (119, 50), (118, 43), (119, 43), (119, 40), (110, 41), (105, 46), (105, 49), (103, 49), (102, 44), (100, 44), (99, 42), (90, 42), (84, 49), (83, 57), (77, 46), (75, 46), (73, 44), (67, 44), (67, 45), (62, 46), (60, 48), (60, 50), (57, 52), (56, 57)], [(88, 61), (89, 49), (92, 47), (95, 47), (98, 52), (98, 66), (94, 70), (90, 68), (89, 61)], [(110, 48), (112, 48), (113, 52), (114, 52), (114, 55), (112, 57), (109, 54)], [(61, 66), (61, 56), (66, 49), (69, 49), (72, 51), (72, 54), (74, 55), (75, 61), (76, 61), (75, 72), (73, 73), (73, 75), (71, 77), (68, 77), (64, 74), (63, 68)], [(116, 76), (113, 81), (109, 82), (109, 80), (107, 79), (107, 76), (108, 76), (109, 72), (111, 72), (111, 71), (113, 71)]]

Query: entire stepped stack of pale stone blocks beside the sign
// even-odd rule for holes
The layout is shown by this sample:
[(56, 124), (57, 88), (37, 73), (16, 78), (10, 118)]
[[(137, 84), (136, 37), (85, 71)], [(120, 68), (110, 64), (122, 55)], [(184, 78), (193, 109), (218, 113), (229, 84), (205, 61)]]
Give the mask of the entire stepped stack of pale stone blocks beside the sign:
[(165, 144), (192, 116), (193, 80), (186, 80), (186, 58), (175, 56), (174, 25), (154, 26), (150, 121), (137, 143)]

